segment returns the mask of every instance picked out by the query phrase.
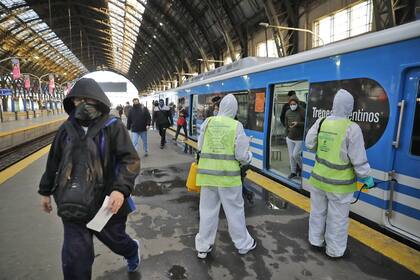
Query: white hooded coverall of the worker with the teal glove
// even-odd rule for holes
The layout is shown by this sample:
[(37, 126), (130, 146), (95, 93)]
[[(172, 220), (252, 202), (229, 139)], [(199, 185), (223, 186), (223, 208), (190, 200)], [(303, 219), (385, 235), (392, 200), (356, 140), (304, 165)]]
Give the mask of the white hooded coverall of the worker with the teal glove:
[[(346, 90), (340, 89), (334, 97), (332, 114), (326, 120), (347, 119), (353, 111), (353, 104), (353, 96)], [(311, 151), (317, 150), (320, 121), (321, 119), (318, 119), (306, 135), (305, 145)], [(340, 147), (340, 158), (352, 165), (357, 177), (369, 177), (370, 166), (363, 134), (356, 123), (351, 123), (346, 129), (345, 138)], [(310, 191), (309, 242), (318, 247), (326, 244), (328, 256), (341, 257), (347, 247), (348, 215), (353, 192), (325, 191), (315, 186), (311, 186)]]

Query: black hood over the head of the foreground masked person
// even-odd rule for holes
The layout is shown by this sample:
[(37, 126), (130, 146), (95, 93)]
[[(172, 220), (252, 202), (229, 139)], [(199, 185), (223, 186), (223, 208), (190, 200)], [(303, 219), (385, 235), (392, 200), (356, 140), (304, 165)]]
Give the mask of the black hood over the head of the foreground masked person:
[(102, 113), (109, 113), (111, 102), (94, 79), (82, 78), (78, 80), (69, 94), (64, 98), (63, 105), (67, 114), (74, 110), (73, 97), (86, 97), (99, 102), (98, 110)]

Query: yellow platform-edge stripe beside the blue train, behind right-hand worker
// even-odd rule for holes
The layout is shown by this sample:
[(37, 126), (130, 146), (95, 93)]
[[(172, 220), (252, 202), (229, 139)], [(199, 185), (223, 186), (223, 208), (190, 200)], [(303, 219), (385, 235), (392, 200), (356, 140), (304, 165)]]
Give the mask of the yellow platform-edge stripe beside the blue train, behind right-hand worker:
[[(297, 207), (310, 211), (310, 200), (264, 175), (248, 170), (247, 179)], [(349, 235), (396, 263), (420, 275), (420, 252), (356, 220), (350, 219)]]

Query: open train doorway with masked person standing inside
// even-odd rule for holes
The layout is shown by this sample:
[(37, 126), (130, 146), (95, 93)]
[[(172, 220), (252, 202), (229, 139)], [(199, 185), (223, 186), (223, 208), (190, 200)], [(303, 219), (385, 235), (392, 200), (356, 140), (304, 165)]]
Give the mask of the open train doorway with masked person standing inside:
[[(297, 157), (301, 157), (308, 91), (308, 81), (271, 86), (269, 168), (271, 171), (289, 178), (298, 179), (296, 174), (301, 172), (301, 158), (290, 158), (289, 154), (293, 152)], [(292, 96), (297, 99), (292, 102), (293, 105), (297, 105), (297, 109), (293, 111), (288, 103)]]

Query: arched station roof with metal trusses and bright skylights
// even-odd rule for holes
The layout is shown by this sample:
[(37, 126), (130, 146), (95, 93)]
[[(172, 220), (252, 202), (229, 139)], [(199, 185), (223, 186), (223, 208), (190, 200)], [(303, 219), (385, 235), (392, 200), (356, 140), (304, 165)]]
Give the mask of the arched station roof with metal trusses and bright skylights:
[(0, 0), (0, 59), (22, 57), (25, 72), (66, 80), (110, 70), (142, 90), (233, 44), (246, 51), (247, 34), (266, 20), (262, 2)]

